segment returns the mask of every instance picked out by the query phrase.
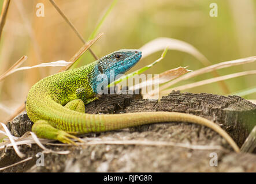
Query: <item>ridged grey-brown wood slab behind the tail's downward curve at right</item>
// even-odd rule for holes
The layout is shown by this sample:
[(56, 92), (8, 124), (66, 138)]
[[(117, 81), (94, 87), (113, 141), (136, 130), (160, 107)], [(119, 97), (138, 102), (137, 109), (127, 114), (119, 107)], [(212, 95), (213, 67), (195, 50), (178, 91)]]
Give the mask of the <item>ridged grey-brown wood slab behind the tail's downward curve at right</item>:
[(158, 110), (191, 113), (217, 122), (241, 146), (255, 126), (256, 105), (238, 96), (173, 91)]

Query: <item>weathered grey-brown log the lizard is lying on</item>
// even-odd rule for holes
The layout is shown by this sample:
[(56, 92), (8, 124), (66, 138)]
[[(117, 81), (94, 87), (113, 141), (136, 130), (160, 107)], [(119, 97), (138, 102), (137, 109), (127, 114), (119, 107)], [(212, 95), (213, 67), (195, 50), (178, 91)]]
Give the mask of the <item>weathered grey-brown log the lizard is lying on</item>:
[[(256, 105), (243, 98), (205, 93), (180, 93), (179, 91), (170, 93), (159, 102), (141, 99), (140, 95), (103, 95), (99, 101), (86, 106), (86, 112), (94, 114), (160, 110), (191, 113), (208, 118), (221, 125), (240, 146), (248, 136), (250, 127), (255, 125), (254, 120), (256, 119)], [(24, 114), (23, 117), (25, 116)], [(18, 130), (17, 124), (19, 124), (17, 121), (11, 122), (9, 128), (13, 132), (22, 132)], [(17, 130), (14, 131), (12, 126)], [(22, 127), (26, 126), (23, 125)], [(45, 167), (31, 167), (35, 165), (35, 154), (41, 150), (37, 145), (32, 145), (32, 147), (23, 145), (19, 147), (21, 151), (28, 156), (34, 156), (34, 159), (5, 171), (256, 172), (256, 155), (236, 154), (220, 135), (201, 125), (186, 122), (164, 122), (120, 131), (92, 133), (87, 136), (102, 141), (164, 141), (166, 143), (183, 143), (194, 146), (219, 145), (224, 149), (195, 150), (179, 146), (134, 144), (83, 145), (82, 147), (47, 145), (48, 148), (53, 150), (69, 150), (71, 154), (45, 154)], [(209, 155), (212, 152), (216, 152), (218, 155), (217, 167), (209, 165), (209, 161), (212, 159)], [(17, 162), (17, 160), (17, 155), (12, 148), (0, 151), (0, 167)]]

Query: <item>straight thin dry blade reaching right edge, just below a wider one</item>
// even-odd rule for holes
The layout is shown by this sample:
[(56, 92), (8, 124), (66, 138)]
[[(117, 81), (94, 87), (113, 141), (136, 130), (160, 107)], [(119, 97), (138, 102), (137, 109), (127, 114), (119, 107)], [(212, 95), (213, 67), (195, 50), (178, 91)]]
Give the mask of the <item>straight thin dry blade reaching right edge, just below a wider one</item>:
[(238, 73), (235, 73), (235, 74), (218, 76), (216, 78), (206, 79), (204, 81), (194, 82), (194, 83), (190, 83), (190, 84), (187, 84), (187, 85), (174, 87), (172, 89), (160, 91), (160, 95), (168, 94), (168, 93), (172, 92), (172, 90), (185, 90), (185, 89), (190, 89), (190, 88), (193, 88), (193, 87), (207, 85), (207, 84), (213, 83), (213, 82), (218, 82), (218, 81), (223, 81), (223, 80), (227, 80), (227, 79), (236, 78), (236, 77), (239, 77), (239, 76), (253, 75), (253, 74), (256, 74), (256, 70), (243, 71), (243, 72), (238, 72)]

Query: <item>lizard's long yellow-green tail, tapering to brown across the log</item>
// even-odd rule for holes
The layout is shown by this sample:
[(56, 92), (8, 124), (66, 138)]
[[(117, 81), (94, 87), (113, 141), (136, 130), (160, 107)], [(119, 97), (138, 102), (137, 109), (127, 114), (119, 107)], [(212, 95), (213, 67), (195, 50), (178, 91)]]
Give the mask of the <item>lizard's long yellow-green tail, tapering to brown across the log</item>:
[[(156, 122), (192, 122), (194, 124), (205, 125), (219, 133), (232, 148), (239, 152), (239, 147), (235, 141), (226, 133), (220, 126), (214, 122), (195, 116), (192, 114), (177, 113), (177, 112), (140, 112), (128, 114), (84, 114), (64, 108), (62, 105), (55, 104), (54, 108), (45, 108), (42, 117), (39, 120), (44, 120), (45, 117), (50, 117), (49, 122), (55, 122), (54, 127), (73, 134), (83, 134), (89, 132), (104, 132), (116, 129), (135, 127), (138, 125), (151, 124)], [(27, 109), (28, 115), (32, 121), (36, 122), (33, 112)], [(35, 113), (36, 114), (36, 113)], [(48, 119), (46, 119), (48, 120)]]

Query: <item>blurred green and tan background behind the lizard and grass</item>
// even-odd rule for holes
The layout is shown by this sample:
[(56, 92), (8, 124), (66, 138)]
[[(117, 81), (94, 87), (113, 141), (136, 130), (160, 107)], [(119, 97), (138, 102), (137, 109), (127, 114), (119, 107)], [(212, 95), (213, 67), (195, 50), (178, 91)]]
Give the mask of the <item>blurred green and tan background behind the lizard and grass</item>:
[[(3, 1), (0, 1), (2, 6)], [(36, 16), (36, 4), (44, 4), (44, 17)], [(112, 1), (55, 0), (57, 5), (85, 40), (97, 26)], [(217, 3), (218, 17), (210, 17), (210, 3)], [(2, 7), (1, 7), (2, 10)], [(98, 56), (122, 48), (140, 48), (158, 37), (183, 40), (197, 48), (213, 64), (254, 56), (256, 53), (256, 1), (254, 0), (119, 0), (103, 22), (99, 32), (105, 33), (92, 45)], [(68, 61), (83, 45), (73, 30), (47, 0), (12, 0), (0, 43), (0, 74), (8, 70), (21, 56), (28, 59), (23, 66), (33, 66), (56, 60)], [(132, 71), (152, 63), (161, 51), (141, 60)], [(94, 61), (86, 52), (79, 63)], [(188, 53), (168, 51), (164, 60), (146, 74), (159, 74), (171, 68), (189, 66), (197, 70), (203, 65)], [(218, 70), (220, 75), (255, 70), (256, 64)], [(44, 76), (60, 70), (35, 68), (19, 71), (0, 82), (0, 121), (13, 113), (27, 96), (29, 88)], [(191, 78), (191, 83), (212, 78), (211, 73)], [(242, 76), (225, 81), (231, 92), (255, 87), (256, 76)], [(218, 83), (186, 90), (192, 93), (224, 94)], [(244, 96), (256, 99), (256, 94)]]

